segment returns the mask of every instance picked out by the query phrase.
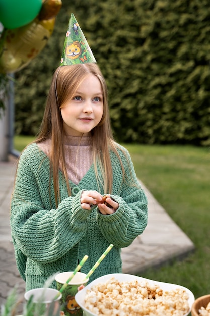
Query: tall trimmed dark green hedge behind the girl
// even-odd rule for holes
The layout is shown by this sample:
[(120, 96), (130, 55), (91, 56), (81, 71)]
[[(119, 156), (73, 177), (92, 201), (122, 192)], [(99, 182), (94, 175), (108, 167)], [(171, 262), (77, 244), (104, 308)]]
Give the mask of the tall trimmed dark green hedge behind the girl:
[(48, 45), (16, 74), (16, 132), (38, 130), (71, 12), (107, 80), (121, 142), (210, 144), (206, 0), (63, 0)]

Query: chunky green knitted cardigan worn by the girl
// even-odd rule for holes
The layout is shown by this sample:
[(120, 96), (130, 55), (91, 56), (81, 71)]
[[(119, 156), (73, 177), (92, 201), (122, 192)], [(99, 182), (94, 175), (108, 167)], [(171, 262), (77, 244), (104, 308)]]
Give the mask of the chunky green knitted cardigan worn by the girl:
[[(126, 175), (131, 175), (134, 183), (130, 185), (125, 181), (120, 162), (111, 151), (111, 196), (119, 203), (119, 208), (114, 214), (102, 215), (97, 206), (84, 210), (80, 203), (83, 190), (97, 190), (103, 194), (93, 165), (78, 185), (69, 181), (71, 196), (68, 196), (67, 185), (59, 171), (61, 202), (56, 208), (49, 158), (36, 143), (23, 151), (11, 199), (10, 225), (17, 267), (26, 281), (26, 291), (43, 287), (57, 272), (73, 271), (85, 254), (89, 258), (81, 271), (88, 273), (110, 243), (114, 247), (89, 282), (105, 274), (121, 272), (121, 248), (129, 246), (142, 234), (148, 215), (147, 198), (136, 178), (130, 155), (123, 147), (118, 152)], [(50, 286), (55, 288), (55, 281)]]

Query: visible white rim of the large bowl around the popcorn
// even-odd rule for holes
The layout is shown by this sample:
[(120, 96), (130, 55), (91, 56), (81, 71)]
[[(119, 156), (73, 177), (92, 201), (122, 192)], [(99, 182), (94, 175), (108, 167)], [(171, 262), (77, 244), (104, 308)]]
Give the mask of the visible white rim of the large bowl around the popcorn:
[(86, 290), (87, 289), (91, 289), (91, 287), (93, 285), (96, 285), (98, 283), (101, 283), (101, 282), (104, 283), (107, 280), (111, 279), (112, 277), (114, 277), (119, 282), (122, 282), (122, 281), (128, 281), (129, 282), (129, 281), (133, 281), (133, 280), (138, 280), (138, 281), (146, 280), (150, 284), (157, 284), (157, 285), (159, 285), (160, 288), (162, 290), (164, 290), (164, 291), (170, 291), (170, 290), (177, 289), (177, 288), (184, 289), (187, 292), (187, 294), (189, 295), (188, 303), (189, 303), (190, 310), (189, 310), (189, 312), (187, 314), (185, 314), (183, 316), (189, 315), (189, 313), (191, 311), (191, 308), (192, 308), (192, 304), (193, 304), (193, 302), (195, 300), (195, 297), (194, 297), (193, 293), (190, 290), (188, 290), (187, 288), (185, 288), (184, 286), (180, 286), (180, 285), (177, 285), (177, 284), (171, 284), (171, 283), (165, 283), (165, 282), (159, 282), (159, 281), (153, 281), (153, 280), (145, 279), (145, 278), (142, 278), (142, 277), (137, 277), (137, 276), (134, 276), (134, 275), (131, 275), (131, 274), (112, 273), (112, 274), (107, 274), (105, 276), (102, 276), (102, 277), (92, 281), (84, 289), (82, 289), (81, 291), (79, 291), (75, 295), (76, 302), (78, 303), (78, 305), (84, 311), (84, 313), (83, 313), (84, 316), (96, 316), (95, 314), (91, 313), (87, 308), (84, 307)]

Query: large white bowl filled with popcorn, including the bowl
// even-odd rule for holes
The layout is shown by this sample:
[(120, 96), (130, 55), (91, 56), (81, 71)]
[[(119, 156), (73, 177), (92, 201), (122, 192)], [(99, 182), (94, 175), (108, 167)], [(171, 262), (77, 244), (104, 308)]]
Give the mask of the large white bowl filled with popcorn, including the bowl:
[(75, 299), (84, 316), (187, 316), (195, 300), (183, 286), (124, 273), (94, 280)]

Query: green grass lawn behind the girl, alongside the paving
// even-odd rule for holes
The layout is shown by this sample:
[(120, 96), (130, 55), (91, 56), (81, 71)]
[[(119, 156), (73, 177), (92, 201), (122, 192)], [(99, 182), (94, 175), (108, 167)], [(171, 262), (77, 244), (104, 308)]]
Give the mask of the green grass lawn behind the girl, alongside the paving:
[[(32, 140), (15, 137), (15, 149), (22, 150)], [(141, 276), (183, 285), (195, 297), (210, 294), (209, 148), (133, 144), (125, 147), (138, 178), (196, 247), (186, 259), (150, 269)]]

